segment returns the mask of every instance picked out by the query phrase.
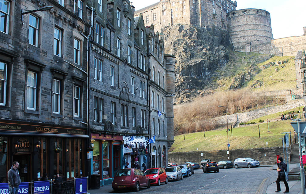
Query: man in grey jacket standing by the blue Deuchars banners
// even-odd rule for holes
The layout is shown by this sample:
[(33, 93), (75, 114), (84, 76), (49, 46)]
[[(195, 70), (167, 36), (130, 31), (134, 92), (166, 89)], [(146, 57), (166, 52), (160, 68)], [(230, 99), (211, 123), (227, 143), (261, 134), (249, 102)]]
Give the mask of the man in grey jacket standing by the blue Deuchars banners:
[(7, 172), (7, 179), (9, 181), (9, 194), (17, 194), (21, 179), (19, 176), (19, 162), (14, 161), (13, 166)]

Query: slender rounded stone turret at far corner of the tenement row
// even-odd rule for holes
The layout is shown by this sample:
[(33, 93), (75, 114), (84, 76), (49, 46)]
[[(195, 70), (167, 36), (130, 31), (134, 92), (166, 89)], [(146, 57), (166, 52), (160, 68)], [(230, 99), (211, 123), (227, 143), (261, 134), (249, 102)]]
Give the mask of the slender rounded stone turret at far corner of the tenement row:
[(173, 112), (173, 98), (175, 95), (175, 56), (174, 55), (165, 55), (166, 59), (166, 87), (168, 92), (168, 97), (166, 97), (166, 106), (167, 106), (167, 139), (168, 139), (168, 150), (174, 142), (174, 112)]

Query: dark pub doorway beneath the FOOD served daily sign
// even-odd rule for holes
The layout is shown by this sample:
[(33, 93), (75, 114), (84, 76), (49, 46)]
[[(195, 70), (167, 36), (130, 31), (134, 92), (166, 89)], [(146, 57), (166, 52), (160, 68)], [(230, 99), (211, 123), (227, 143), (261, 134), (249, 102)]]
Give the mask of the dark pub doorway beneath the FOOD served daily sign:
[(13, 161), (19, 162), (19, 176), (21, 182), (31, 181), (31, 154), (15, 154), (13, 155)]

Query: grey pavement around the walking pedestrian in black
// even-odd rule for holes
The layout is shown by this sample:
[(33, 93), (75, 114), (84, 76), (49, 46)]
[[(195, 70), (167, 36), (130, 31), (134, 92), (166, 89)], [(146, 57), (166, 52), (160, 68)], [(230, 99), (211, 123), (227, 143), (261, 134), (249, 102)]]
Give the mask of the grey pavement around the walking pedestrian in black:
[[(293, 168), (296, 168), (297, 164), (289, 164), (289, 171)], [(263, 194), (271, 194), (271, 193), (283, 193), (285, 191), (285, 184), (283, 181), (280, 182), (281, 185), (281, 192), (275, 192), (276, 191), (276, 179), (278, 177), (278, 172), (276, 171), (277, 165), (273, 165), (271, 170), (270, 177), (267, 177), (262, 182), (262, 187), (267, 188), (265, 191), (263, 189)], [(301, 181), (288, 181), (289, 186), (289, 192), (294, 194), (301, 194), (302, 193), (302, 186)]]

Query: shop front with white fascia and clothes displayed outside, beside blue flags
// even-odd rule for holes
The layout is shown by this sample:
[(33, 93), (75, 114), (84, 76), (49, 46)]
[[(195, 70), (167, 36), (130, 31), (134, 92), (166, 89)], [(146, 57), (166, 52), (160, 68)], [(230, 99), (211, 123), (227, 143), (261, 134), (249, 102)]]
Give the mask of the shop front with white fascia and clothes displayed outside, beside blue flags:
[(147, 140), (139, 136), (123, 136), (124, 147), (122, 167), (138, 168), (145, 171), (148, 166)]

